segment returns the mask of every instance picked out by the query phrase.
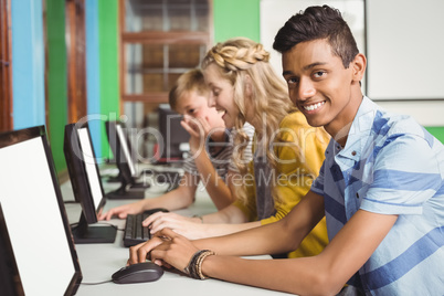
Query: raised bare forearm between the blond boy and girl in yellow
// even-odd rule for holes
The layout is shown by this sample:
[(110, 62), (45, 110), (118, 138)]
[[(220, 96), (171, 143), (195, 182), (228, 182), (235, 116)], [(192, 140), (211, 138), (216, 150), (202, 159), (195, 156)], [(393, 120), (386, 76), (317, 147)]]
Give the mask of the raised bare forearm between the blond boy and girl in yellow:
[(230, 188), (218, 175), (207, 152), (201, 151), (194, 161), (200, 172), (201, 180), (215, 208), (222, 210), (229, 207), (234, 201), (234, 197)]

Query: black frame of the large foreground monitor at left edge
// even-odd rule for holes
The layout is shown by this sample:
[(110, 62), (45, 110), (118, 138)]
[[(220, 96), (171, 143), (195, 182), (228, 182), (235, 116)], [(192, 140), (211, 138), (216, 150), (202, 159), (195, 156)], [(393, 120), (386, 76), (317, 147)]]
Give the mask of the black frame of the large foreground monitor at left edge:
[[(74, 242), (72, 239), (72, 232), (71, 232), (70, 223), (68, 223), (68, 220), (66, 216), (65, 205), (63, 202), (62, 192), (61, 192), (60, 184), (59, 184), (59, 179), (57, 179), (57, 176), (55, 172), (54, 160), (52, 158), (52, 152), (51, 152), (47, 137), (46, 137), (45, 127), (36, 126), (36, 127), (30, 127), (30, 128), (2, 133), (2, 134), (0, 134), (0, 148), (8, 147), (11, 145), (19, 144), (19, 142), (34, 139), (34, 138), (41, 138), (41, 140), (42, 140), (42, 146), (43, 146), (43, 149), (45, 152), (45, 158), (46, 158), (45, 160), (49, 166), (49, 171), (50, 171), (52, 183), (54, 187), (54, 194), (57, 200), (57, 207), (59, 207), (59, 211), (61, 214), (63, 229), (66, 234), (66, 242), (67, 242), (67, 245), (70, 249), (70, 254), (71, 254), (71, 258), (73, 262), (73, 267), (74, 267), (74, 274), (72, 275), (72, 278), (70, 281), (68, 286), (66, 287), (64, 295), (75, 295), (81, 282), (82, 282), (82, 271), (81, 271), (81, 266), (78, 264), (77, 253), (75, 251)], [(18, 177), (18, 178), (21, 178), (21, 177)], [(20, 214), (19, 209), (18, 209), (18, 214)], [(44, 214), (44, 213), (41, 213), (41, 214)], [(3, 214), (1, 214), (1, 218), (4, 221)], [(8, 226), (8, 221), (6, 221), (4, 224)], [(3, 237), (8, 237), (7, 244), (9, 246), (11, 246), (10, 250), (12, 250), (12, 252), (13, 252), (13, 246), (11, 245), (11, 243), (9, 241), (9, 235), (7, 236), (7, 233), (4, 232), (4, 230), (6, 230), (4, 228), (3, 229), (0, 228), (0, 232), (2, 232)], [(23, 235), (27, 235), (27, 234), (23, 233)], [(13, 255), (13, 253), (11, 253), (11, 251), (9, 251), (9, 256), (12, 256), (12, 255)], [(10, 260), (11, 258), (12, 257), (10, 257)], [(39, 276), (39, 275), (35, 275), (35, 276)], [(42, 276), (46, 276), (46, 274), (44, 272), (44, 266), (42, 266)], [(20, 288), (17, 292), (20, 295)]]

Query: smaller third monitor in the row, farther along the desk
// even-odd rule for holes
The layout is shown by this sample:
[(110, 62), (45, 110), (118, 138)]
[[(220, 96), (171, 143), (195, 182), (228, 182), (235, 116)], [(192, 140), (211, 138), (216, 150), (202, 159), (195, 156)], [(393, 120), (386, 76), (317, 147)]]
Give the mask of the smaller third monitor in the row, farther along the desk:
[[(136, 168), (136, 152), (130, 145), (125, 125), (121, 121), (108, 120), (105, 121), (105, 129), (119, 170), (121, 198), (144, 198), (145, 190), (150, 186), (147, 182), (137, 182), (139, 172)], [(119, 197), (116, 195), (116, 198)]]

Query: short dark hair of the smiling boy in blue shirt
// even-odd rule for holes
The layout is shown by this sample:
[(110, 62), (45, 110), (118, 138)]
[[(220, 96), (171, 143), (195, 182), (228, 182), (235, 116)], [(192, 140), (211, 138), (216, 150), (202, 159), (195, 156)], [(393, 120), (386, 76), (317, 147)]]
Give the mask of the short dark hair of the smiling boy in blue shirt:
[(293, 15), (277, 32), (273, 49), (285, 53), (300, 42), (326, 39), (332, 53), (348, 68), (359, 53), (353, 34), (339, 10), (328, 6), (309, 7)]

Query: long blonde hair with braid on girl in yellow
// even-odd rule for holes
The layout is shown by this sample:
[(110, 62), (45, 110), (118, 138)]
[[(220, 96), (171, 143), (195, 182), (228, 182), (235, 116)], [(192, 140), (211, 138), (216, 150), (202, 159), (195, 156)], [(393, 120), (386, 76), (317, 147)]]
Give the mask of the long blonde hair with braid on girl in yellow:
[[(245, 124), (246, 108), (253, 109), (252, 123), (262, 123), (261, 127), (255, 126), (256, 137), (263, 145), (263, 151), (266, 151), (267, 162), (272, 169), (276, 168), (276, 160), (269, 142), (271, 136), (279, 128), (281, 120), (288, 113), (296, 110), (289, 101), (285, 82), (277, 76), (268, 60), (269, 53), (261, 43), (246, 38), (234, 38), (214, 45), (202, 61), (203, 71), (210, 64), (218, 65), (221, 76), (234, 87), (234, 103), (240, 113), (234, 121), (233, 140), (234, 147), (237, 149), (233, 151), (233, 159), (241, 173), (247, 171), (247, 163), (243, 161), (243, 155), (249, 138), (242, 129)], [(245, 99), (246, 76), (250, 76), (249, 81), (252, 86), (251, 99), (247, 102)], [(236, 195), (246, 202), (245, 186), (239, 189)]]

